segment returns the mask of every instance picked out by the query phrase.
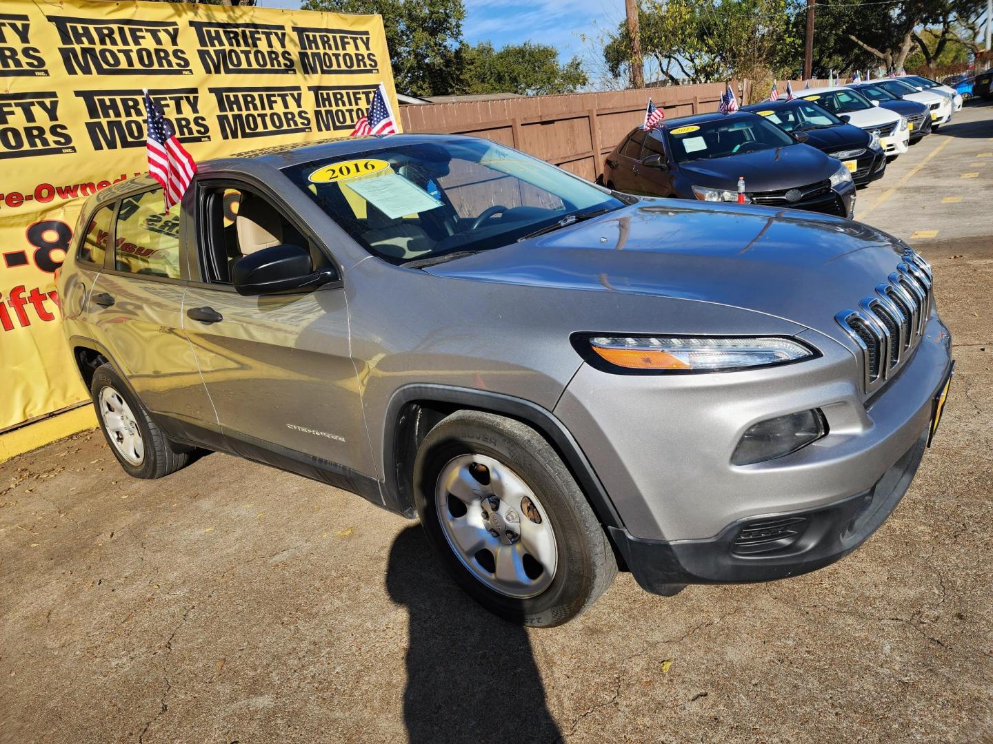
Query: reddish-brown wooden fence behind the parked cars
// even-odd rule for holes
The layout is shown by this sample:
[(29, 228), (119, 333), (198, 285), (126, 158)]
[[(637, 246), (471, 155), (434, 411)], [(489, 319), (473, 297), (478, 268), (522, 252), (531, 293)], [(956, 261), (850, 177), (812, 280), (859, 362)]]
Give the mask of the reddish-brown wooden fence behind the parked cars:
[[(732, 83), (736, 94), (739, 85)], [(797, 95), (804, 83), (792, 80)], [(827, 80), (811, 80), (821, 87)], [(785, 82), (780, 83), (780, 93)], [(604, 156), (644, 120), (648, 98), (665, 117), (716, 111), (723, 82), (656, 88), (503, 98), (465, 103), (431, 103), (400, 107), (405, 132), (444, 132), (484, 137), (595, 181), (603, 173)], [(746, 100), (762, 100), (765, 94)]]

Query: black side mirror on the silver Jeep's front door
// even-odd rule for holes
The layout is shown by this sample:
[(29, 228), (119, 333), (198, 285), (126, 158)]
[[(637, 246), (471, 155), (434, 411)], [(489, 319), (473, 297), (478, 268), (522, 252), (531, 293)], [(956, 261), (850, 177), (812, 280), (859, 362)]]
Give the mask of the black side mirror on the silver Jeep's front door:
[(334, 269), (314, 271), (309, 251), (285, 243), (242, 256), (231, 267), (231, 284), (245, 296), (309, 292), (337, 278)]

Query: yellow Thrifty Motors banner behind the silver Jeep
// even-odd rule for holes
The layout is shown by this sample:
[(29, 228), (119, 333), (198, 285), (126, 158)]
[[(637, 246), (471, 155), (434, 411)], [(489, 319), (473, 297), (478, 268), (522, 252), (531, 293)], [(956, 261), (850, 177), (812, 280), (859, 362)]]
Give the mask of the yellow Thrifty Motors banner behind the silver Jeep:
[(147, 171), (143, 88), (202, 161), (347, 136), (380, 82), (396, 113), (379, 16), (3, 0), (0, 432), (88, 397), (55, 271), (85, 197)]

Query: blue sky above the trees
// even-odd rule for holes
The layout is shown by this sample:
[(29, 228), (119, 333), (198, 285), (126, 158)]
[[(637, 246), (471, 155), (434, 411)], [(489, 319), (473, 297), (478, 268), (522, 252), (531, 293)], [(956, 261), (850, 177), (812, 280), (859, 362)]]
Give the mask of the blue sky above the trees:
[[(257, 0), (266, 8), (299, 9), (301, 0)], [(532, 41), (548, 44), (568, 62), (595, 54), (581, 34), (614, 29), (624, 18), (624, 0), (464, 0), (463, 35), (470, 44), (491, 41), (499, 49)]]

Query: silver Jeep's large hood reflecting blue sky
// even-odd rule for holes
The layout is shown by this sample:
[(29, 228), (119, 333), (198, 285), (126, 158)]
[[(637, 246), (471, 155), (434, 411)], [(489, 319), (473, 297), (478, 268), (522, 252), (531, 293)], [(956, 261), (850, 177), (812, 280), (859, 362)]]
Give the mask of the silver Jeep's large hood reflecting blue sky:
[[(859, 300), (873, 294), (896, 271), (903, 250), (896, 238), (839, 217), (644, 199), (588, 222), (424, 271), (479, 282), (756, 310), (851, 347), (835, 313), (857, 308)], [(549, 296), (543, 311), (554, 312), (555, 307)]]

